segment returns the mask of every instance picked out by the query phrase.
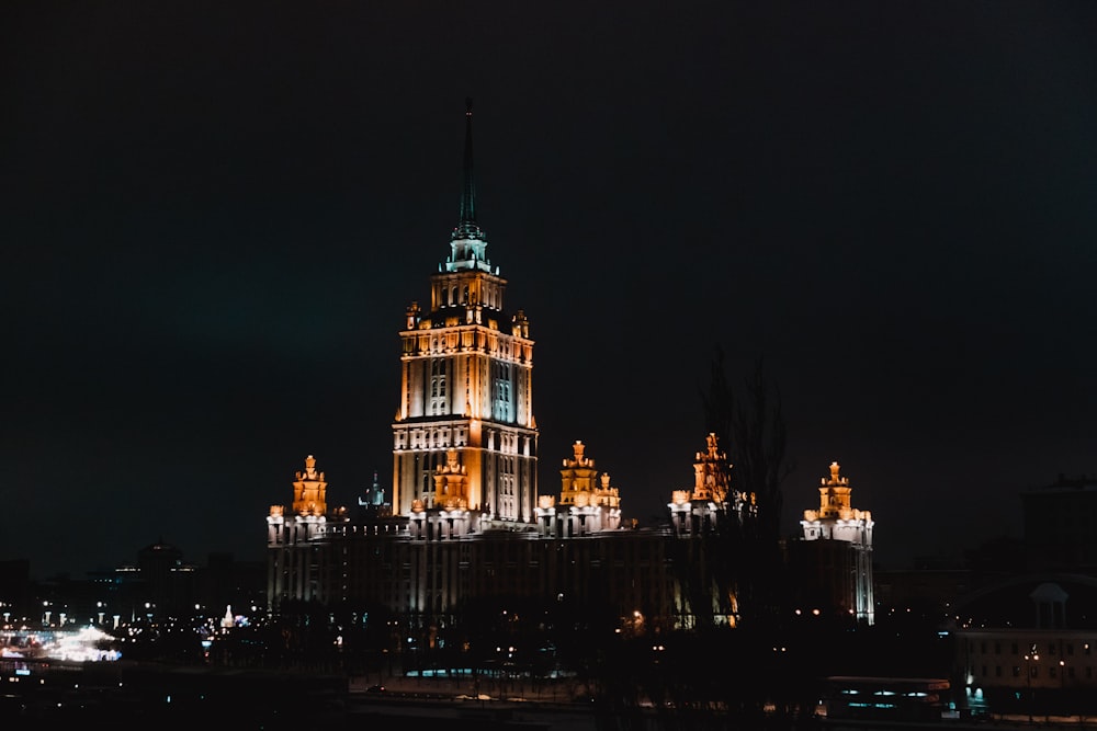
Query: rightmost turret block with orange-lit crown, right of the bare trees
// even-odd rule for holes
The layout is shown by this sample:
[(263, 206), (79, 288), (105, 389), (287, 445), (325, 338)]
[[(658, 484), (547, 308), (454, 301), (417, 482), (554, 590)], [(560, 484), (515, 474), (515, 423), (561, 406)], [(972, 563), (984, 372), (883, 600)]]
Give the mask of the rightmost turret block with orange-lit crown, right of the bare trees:
[(849, 478), (830, 462), (819, 480), (818, 510), (804, 511), (803, 536), (793, 549), (804, 598), (873, 624), (872, 529), (869, 511), (850, 504)]

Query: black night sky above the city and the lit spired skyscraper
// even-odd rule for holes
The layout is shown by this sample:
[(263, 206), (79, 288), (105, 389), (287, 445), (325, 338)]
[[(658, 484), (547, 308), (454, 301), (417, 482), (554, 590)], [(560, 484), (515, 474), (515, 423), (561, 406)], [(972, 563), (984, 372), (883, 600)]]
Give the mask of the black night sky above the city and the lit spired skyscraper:
[(24, 2), (0, 11), (0, 559), (263, 553), (387, 482), (456, 224), (530, 317), (541, 491), (692, 482), (713, 347), (885, 566), (1097, 472), (1093, 2)]

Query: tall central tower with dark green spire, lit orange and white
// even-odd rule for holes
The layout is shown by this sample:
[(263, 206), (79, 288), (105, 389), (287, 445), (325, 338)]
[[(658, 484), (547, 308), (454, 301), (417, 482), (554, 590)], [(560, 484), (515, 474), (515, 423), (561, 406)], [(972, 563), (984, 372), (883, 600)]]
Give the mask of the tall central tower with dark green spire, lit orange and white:
[(508, 315), (507, 281), (476, 222), (472, 100), (464, 182), (450, 254), (430, 277), (430, 309), (412, 301), (400, 331), (400, 399), (393, 423), (393, 510), (470, 512), (534, 521), (538, 429), (533, 341)]

